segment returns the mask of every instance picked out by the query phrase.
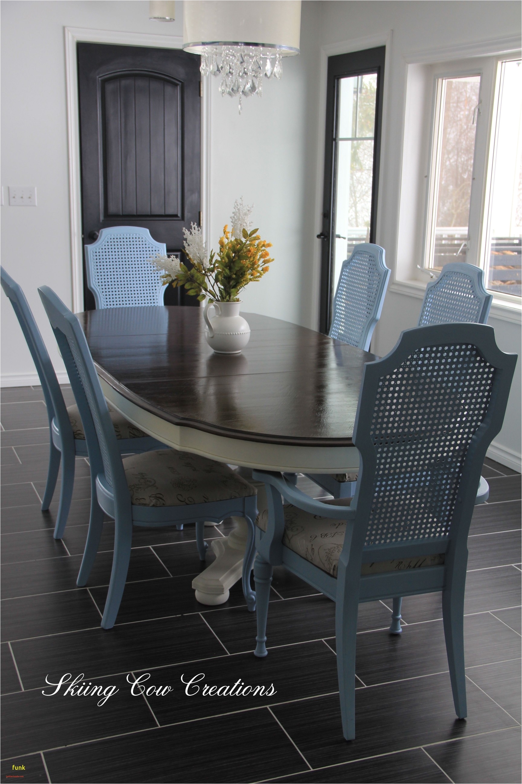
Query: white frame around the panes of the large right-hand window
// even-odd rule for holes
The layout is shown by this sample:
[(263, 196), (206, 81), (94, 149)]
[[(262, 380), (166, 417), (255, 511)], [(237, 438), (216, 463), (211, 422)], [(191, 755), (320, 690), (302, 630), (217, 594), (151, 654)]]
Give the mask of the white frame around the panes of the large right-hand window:
[[(479, 75), (479, 106), (477, 109), (477, 129), (475, 132), (475, 148), (473, 153), (473, 174), (470, 194), (470, 216), (466, 238), (466, 262), (484, 270), (488, 275), (487, 238), (489, 225), (489, 205), (492, 175), (495, 158), (496, 118), (499, 107), (499, 87), (501, 64), (506, 60), (520, 58), (520, 51), (509, 54), (485, 56), (470, 60), (455, 60), (451, 63), (436, 64), (432, 70), (432, 118), (430, 123), (429, 153), (427, 157), (427, 189), (423, 220), (423, 259), (421, 267), (430, 277), (437, 276), (437, 270), (429, 267), (432, 245), (434, 243), (434, 197), (437, 193), (438, 168), (434, 166), (437, 158), (437, 147), (440, 139), (441, 122), (441, 80)], [(463, 260), (461, 258), (461, 260)], [(484, 281), (487, 285), (487, 278)], [(491, 290), (499, 302), (520, 307), (520, 296)]]

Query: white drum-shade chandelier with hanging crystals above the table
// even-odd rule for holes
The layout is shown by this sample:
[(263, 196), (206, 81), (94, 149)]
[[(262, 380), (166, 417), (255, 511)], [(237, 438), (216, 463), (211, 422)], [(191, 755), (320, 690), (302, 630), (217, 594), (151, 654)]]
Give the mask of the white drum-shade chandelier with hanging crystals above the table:
[(239, 114), (299, 54), (301, 0), (185, 0), (183, 11), (183, 49), (201, 55), (203, 76), (221, 77), (221, 96), (239, 97)]

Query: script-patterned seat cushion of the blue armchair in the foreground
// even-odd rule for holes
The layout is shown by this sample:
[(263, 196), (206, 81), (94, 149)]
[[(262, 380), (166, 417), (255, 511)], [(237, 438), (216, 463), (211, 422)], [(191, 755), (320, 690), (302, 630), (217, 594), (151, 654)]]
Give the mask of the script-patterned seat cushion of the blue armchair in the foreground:
[[(334, 506), (349, 506), (351, 499), (333, 499), (325, 503)], [(346, 523), (331, 517), (319, 517), (299, 509), (292, 504), (283, 506), (285, 514), (285, 533), (283, 544), (294, 553), (306, 558), (311, 564), (337, 577), (340, 552), (344, 545)], [(261, 514), (256, 521), (258, 528), (266, 531), (268, 514)], [(444, 554), (423, 555), (419, 557), (396, 558), (394, 561), (374, 561), (362, 564), (362, 575), (380, 572), (398, 572), (401, 569), (416, 569), (424, 566), (444, 564)]]

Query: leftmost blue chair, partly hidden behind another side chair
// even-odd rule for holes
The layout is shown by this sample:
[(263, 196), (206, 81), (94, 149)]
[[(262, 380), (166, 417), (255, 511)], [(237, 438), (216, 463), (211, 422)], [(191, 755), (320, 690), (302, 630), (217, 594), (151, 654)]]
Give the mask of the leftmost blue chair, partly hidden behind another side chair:
[[(40, 330), (20, 285), (13, 281), (13, 278), (5, 272), (3, 267), (0, 268), (0, 279), (2, 281), (2, 289), (4, 289), (5, 294), (11, 300), (16, 318), (20, 322), (23, 336), (27, 341), (27, 347), (31, 351), (31, 357), (34, 365), (36, 365), (47, 407), (49, 419), (49, 470), (44, 497), (41, 502), (42, 511), (49, 509), (52, 495), (56, 488), (59, 465), (60, 462), (62, 463), (62, 484), (54, 530), (54, 538), (61, 539), (67, 524), (70, 501), (73, 495), (75, 457), (88, 456), (85, 432), (77, 406), (70, 405), (66, 408), (62, 390), (59, 388), (58, 379), (49, 358), (49, 352), (45, 348)], [(117, 437), (118, 448), (122, 453), (147, 452), (149, 449), (157, 449), (162, 446), (160, 441), (156, 441), (155, 438), (147, 436), (138, 427), (131, 425), (121, 414), (111, 411), (110, 418)]]

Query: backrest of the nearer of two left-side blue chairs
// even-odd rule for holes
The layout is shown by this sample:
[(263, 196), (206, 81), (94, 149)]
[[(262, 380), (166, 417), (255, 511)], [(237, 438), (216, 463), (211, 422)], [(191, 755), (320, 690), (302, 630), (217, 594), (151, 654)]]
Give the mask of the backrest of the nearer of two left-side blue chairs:
[[(89, 463), (116, 491), (127, 488), (120, 450), (80, 322), (49, 286), (38, 289), (67, 369), (85, 429)], [(128, 492), (127, 492), (127, 497)], [(129, 502), (130, 503), (130, 502)]]

